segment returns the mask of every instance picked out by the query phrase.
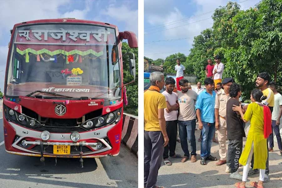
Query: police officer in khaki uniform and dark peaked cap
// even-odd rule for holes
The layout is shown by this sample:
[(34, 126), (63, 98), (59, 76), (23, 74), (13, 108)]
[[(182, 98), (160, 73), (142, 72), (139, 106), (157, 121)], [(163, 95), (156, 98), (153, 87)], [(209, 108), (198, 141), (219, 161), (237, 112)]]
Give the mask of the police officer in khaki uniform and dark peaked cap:
[[(219, 142), (219, 156), (220, 160), (216, 163), (217, 166), (223, 165), (226, 163), (226, 104), (227, 101), (231, 98), (229, 96), (229, 86), (232, 85), (232, 78), (225, 78), (222, 81), (223, 89), (217, 91), (216, 100), (215, 100), (215, 127), (217, 129), (217, 138)], [(226, 172), (229, 172), (230, 169), (227, 166)]]

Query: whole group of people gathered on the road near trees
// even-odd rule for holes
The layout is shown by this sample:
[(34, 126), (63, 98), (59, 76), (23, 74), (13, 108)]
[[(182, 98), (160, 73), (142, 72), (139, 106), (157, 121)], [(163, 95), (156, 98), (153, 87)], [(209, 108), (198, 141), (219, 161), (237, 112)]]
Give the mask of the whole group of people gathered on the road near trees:
[[(212, 139), (217, 130), (220, 159), (216, 165), (226, 164), (225, 171), (231, 173), (230, 178), (242, 180), (235, 184), (236, 187), (245, 187), (247, 176), (255, 173), (260, 173), (259, 181), (251, 182), (251, 185), (262, 188), (263, 182), (269, 181), (268, 152), (273, 151), (274, 147), (272, 129), (282, 154), (279, 134), (282, 96), (277, 92), (276, 84), (270, 82), (269, 74), (263, 72), (257, 76), (257, 88), (251, 92), (252, 103), (242, 106), (239, 100), (241, 86), (232, 78), (222, 81), (224, 65), (219, 56), (215, 57), (215, 61), (218, 66), (206, 69), (205, 89), (198, 83), (197, 89), (192, 90), (188, 80), (177, 79), (177, 75), (176, 84), (180, 91), (174, 92), (175, 80), (172, 77), (165, 80), (162, 73), (151, 73), (151, 86), (144, 92), (144, 187), (159, 187), (155, 185), (158, 170), (162, 162), (172, 165), (169, 157), (186, 162), (191, 154), (191, 162), (197, 161), (196, 121), (201, 130), (201, 165), (206, 165), (206, 160), (217, 160), (211, 155)], [(208, 64), (212, 66), (211, 59)], [(179, 60), (176, 66), (180, 66)], [(212, 76), (209, 74), (211, 70)], [(218, 88), (216, 92), (217, 83), (221, 83), (222, 88)], [(166, 89), (160, 93), (164, 85)], [(244, 128), (248, 121), (250, 129), (243, 150), (243, 137), (246, 137)], [(177, 125), (184, 156), (175, 154)], [(191, 145), (191, 153), (187, 140)], [(243, 175), (238, 173), (239, 164), (243, 165)]]

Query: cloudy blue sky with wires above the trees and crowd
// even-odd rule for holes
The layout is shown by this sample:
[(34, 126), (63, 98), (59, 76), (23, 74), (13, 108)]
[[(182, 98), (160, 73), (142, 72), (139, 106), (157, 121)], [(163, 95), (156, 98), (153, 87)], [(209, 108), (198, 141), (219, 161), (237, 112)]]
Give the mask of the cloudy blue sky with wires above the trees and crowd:
[[(195, 36), (211, 28), (216, 8), (228, 0), (144, 0), (144, 56), (165, 59), (175, 53), (189, 55)], [(242, 10), (259, 0), (236, 0)]]

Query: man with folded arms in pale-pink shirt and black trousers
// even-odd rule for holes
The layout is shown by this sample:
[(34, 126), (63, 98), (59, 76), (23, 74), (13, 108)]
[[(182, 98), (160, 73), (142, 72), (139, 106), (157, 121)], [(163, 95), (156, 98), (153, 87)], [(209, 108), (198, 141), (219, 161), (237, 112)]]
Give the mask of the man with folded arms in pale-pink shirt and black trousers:
[(165, 146), (163, 155), (165, 165), (171, 165), (171, 162), (168, 160), (169, 156), (171, 158), (181, 158), (180, 155), (175, 154), (177, 135), (177, 110), (179, 109), (179, 105), (177, 94), (173, 92), (174, 88), (175, 80), (172, 77), (167, 77), (165, 79), (165, 91), (162, 92), (162, 94), (165, 96), (167, 106), (167, 108), (164, 109), (164, 115), (166, 132), (169, 138), (169, 144)]

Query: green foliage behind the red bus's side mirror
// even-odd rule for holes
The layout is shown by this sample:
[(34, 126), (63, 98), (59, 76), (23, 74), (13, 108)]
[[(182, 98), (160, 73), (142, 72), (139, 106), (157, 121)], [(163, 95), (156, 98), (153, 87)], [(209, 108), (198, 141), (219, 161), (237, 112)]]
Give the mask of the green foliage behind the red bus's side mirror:
[(138, 116), (138, 48), (130, 48), (126, 42), (123, 42), (122, 54), (124, 84), (133, 80), (133, 76), (131, 76), (129, 72), (129, 58), (132, 58), (132, 55), (126, 55), (128, 52), (133, 52), (135, 55), (136, 79), (133, 83), (126, 86), (128, 106), (124, 106), (124, 112)]

